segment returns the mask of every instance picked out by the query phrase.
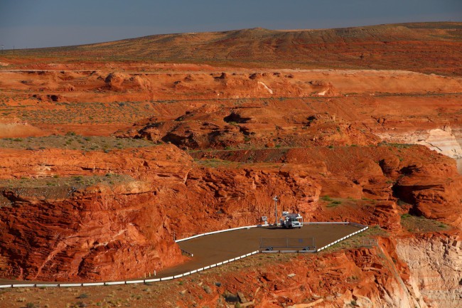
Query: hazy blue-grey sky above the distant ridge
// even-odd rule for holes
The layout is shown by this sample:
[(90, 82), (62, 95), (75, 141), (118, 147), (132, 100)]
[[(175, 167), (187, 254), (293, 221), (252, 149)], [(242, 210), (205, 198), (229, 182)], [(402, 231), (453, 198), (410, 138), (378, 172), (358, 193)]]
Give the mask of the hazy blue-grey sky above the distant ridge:
[(161, 33), (462, 21), (462, 0), (0, 0), (4, 48)]

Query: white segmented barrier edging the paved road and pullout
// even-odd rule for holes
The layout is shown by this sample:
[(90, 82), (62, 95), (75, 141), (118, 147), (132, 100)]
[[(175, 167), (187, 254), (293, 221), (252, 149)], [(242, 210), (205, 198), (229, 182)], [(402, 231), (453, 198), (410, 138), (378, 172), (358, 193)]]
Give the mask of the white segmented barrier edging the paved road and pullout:
[[(326, 222), (326, 223), (328, 223), (328, 222)], [(322, 223), (322, 224), (326, 224), (326, 223)], [(316, 223), (304, 223), (304, 224), (316, 224)], [(318, 223), (318, 224), (321, 224), (321, 223)], [(318, 250), (316, 250), (317, 252), (321, 251), (323, 249), (326, 249), (326, 248), (330, 247), (331, 245), (334, 245), (334, 244), (340, 242), (341, 240), (345, 240), (346, 238), (349, 238), (350, 236), (356, 235), (356, 234), (358, 234), (358, 233), (360, 233), (360, 232), (362, 232), (364, 230), (367, 230), (367, 228), (368, 228), (367, 226), (360, 225), (358, 223), (345, 222), (345, 223), (337, 223), (337, 224), (344, 224), (344, 225), (345, 224), (351, 224), (351, 225), (356, 225), (359, 228), (360, 227), (365, 227), (365, 228), (362, 228), (361, 230), (358, 230), (355, 233), (352, 233), (352, 234), (347, 235), (347, 236), (345, 236), (343, 238), (340, 238), (339, 240), (335, 240), (335, 242), (333, 242), (331, 244), (328, 244), (326, 246), (323, 246), (322, 248), (319, 248)], [(256, 228), (256, 227), (259, 227), (259, 226), (262, 226), (262, 225), (247, 225), (245, 227), (230, 228), (230, 229), (225, 229), (225, 230), (218, 230), (218, 231), (213, 231), (213, 232), (208, 232), (208, 233), (202, 233), (202, 234), (190, 236), (189, 238), (182, 238), (181, 240), (176, 240), (175, 242), (178, 243), (178, 242), (182, 242), (183, 240), (190, 240), (190, 239), (193, 239), (193, 238), (199, 238), (200, 236), (216, 234), (216, 233), (222, 233), (222, 232), (229, 232), (229, 231), (240, 230), (240, 229)], [(41, 283), (41, 284), (17, 284), (16, 283), (16, 284), (11, 284), (11, 285), (0, 285), (0, 289), (1, 288), (6, 288), (6, 287), (93, 287), (93, 286), (104, 286), (104, 285), (131, 285), (131, 284), (139, 284), (139, 283), (146, 283), (146, 282), (161, 282), (161, 281), (165, 281), (165, 280), (172, 280), (172, 279), (185, 277), (185, 276), (188, 276), (188, 275), (191, 275), (191, 274), (195, 274), (196, 272), (202, 272), (203, 270), (208, 270), (209, 268), (212, 268), (212, 267), (217, 267), (217, 266), (229, 263), (229, 262), (240, 260), (240, 259), (243, 259), (245, 257), (255, 255), (257, 253), (259, 253), (259, 250), (255, 250), (252, 253), (247, 253), (245, 255), (241, 255), (240, 257), (233, 257), (230, 260), (218, 262), (218, 263), (215, 263), (213, 265), (208, 265), (208, 266), (205, 266), (205, 267), (198, 268), (197, 270), (191, 270), (190, 272), (185, 272), (183, 274), (174, 275), (174, 276), (170, 276), (170, 277), (162, 277), (162, 278), (155, 278), (155, 279), (144, 279), (144, 280), (112, 281), (112, 282), (83, 282), (83, 283), (58, 283), (58, 284), (45, 284), (45, 283)]]

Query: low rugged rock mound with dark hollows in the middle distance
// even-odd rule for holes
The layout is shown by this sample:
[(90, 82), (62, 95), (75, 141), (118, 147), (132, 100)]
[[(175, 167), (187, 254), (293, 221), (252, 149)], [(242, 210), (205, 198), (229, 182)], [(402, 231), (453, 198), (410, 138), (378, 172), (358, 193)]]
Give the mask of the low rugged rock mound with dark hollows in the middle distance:
[(203, 105), (174, 120), (154, 117), (116, 133), (119, 137), (171, 142), (181, 149), (366, 145), (380, 139), (335, 115), (312, 115), (283, 106)]

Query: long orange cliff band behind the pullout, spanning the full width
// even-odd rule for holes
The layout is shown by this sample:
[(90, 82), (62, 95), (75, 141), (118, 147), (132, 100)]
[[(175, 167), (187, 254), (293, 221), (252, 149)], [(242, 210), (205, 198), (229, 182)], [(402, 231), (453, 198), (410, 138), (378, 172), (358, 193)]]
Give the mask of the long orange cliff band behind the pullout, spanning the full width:
[[(12, 154), (23, 156), (21, 164), (9, 159)], [(380, 161), (394, 161), (397, 154), (390, 147), (204, 152), (200, 155), (226, 156), (230, 161), (208, 167), (193, 164), (188, 154), (171, 145), (86, 155), (58, 150), (28, 156), (21, 151), (3, 152), (4, 170), (16, 170), (0, 174), (4, 179), (26, 173), (43, 177), (104, 175), (107, 171), (134, 178), (77, 190), (68, 186), (4, 187), (3, 198), (10, 205), (3, 208), (1, 220), (5, 230), (0, 241), (3, 276), (33, 280), (142, 276), (183, 260), (173, 243), (173, 231), (185, 237), (259, 223), (261, 216), (272, 213), (274, 194), (280, 196), (281, 208), (298, 211), (307, 221), (377, 223), (397, 233), (399, 213), (404, 210), (397, 207), (395, 196), (407, 196), (411, 189), (419, 192), (412, 195), (415, 201), (409, 201), (415, 204), (414, 211), (460, 223), (456, 191), (461, 188), (461, 177), (449, 159), (424, 147), (409, 147), (399, 152), (405, 159), (387, 163), (384, 172)], [(248, 155), (254, 156), (249, 166), (232, 165), (233, 159), (246, 161)], [(441, 177), (409, 173), (415, 165)], [(441, 182), (443, 176), (454, 180)], [(412, 184), (422, 181), (425, 186)], [(344, 189), (345, 184), (350, 190)], [(436, 193), (439, 203), (425, 208), (428, 196)], [(319, 198), (327, 194), (344, 198), (345, 206), (326, 208)]]

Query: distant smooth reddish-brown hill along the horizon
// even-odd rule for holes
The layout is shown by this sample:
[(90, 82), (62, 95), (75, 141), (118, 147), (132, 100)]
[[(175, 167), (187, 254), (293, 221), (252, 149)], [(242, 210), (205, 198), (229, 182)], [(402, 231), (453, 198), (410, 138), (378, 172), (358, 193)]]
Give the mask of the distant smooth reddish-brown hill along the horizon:
[[(65, 70), (69, 67), (66, 65), (95, 70), (113, 66), (112, 61), (149, 70), (149, 65), (140, 65), (148, 60), (252, 68), (393, 69), (461, 75), (461, 38), (461, 23), (457, 22), (301, 31), (253, 28), (16, 51), (16, 55), (21, 55), (18, 60), (9, 51), (0, 62), (39, 69), (45, 69), (48, 63), (58, 70)], [(99, 65), (88, 65), (95, 62)]]

